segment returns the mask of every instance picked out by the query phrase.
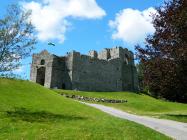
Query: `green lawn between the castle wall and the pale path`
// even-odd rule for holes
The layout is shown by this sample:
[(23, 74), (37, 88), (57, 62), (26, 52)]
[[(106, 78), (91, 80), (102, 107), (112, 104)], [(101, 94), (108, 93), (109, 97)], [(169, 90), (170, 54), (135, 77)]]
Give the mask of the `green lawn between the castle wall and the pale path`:
[(144, 94), (130, 92), (82, 92), (69, 90), (55, 90), (57, 93), (77, 94), (87, 97), (99, 97), (109, 99), (124, 99), (127, 103), (111, 104), (112, 106), (129, 113), (165, 118), (180, 122), (187, 122), (187, 104), (158, 100)]

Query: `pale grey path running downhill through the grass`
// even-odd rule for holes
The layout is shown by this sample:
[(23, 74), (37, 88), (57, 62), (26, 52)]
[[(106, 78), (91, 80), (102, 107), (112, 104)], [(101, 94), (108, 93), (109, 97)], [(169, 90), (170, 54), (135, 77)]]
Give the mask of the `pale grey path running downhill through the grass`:
[(100, 105), (100, 104), (90, 104), (90, 103), (85, 103), (85, 102), (82, 102), (82, 103), (88, 106), (95, 107), (110, 115), (123, 118), (123, 119), (127, 119), (130, 121), (142, 124), (144, 126), (150, 127), (171, 138), (174, 138), (177, 140), (187, 140), (187, 123), (181, 123), (181, 122), (165, 120), (165, 119), (156, 119), (156, 118), (147, 117), (147, 116), (133, 115), (133, 114), (129, 114), (121, 110), (118, 110), (112, 107), (107, 107), (107, 106)]

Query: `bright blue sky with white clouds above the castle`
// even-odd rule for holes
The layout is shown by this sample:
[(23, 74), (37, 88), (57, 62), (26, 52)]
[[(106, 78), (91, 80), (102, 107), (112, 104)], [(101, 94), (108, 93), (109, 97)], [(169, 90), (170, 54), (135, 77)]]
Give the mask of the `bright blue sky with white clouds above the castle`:
[[(6, 7), (17, 3), (32, 10), (31, 21), (38, 43), (32, 53), (48, 50), (62, 56), (72, 50), (87, 54), (89, 50), (122, 46), (131, 51), (144, 45), (153, 34), (151, 14), (164, 0), (1, 0), (0, 18)], [(49, 46), (52, 42), (55, 46)], [(32, 58), (22, 60), (16, 74), (29, 79)]]

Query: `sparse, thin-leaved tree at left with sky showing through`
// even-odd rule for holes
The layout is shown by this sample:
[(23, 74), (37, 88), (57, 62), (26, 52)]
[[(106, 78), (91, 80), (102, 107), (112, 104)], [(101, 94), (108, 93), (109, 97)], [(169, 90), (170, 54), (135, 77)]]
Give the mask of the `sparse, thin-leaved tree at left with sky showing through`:
[(31, 11), (10, 5), (5, 17), (0, 19), (0, 72), (18, 68), (20, 60), (30, 55), (36, 43), (30, 15)]

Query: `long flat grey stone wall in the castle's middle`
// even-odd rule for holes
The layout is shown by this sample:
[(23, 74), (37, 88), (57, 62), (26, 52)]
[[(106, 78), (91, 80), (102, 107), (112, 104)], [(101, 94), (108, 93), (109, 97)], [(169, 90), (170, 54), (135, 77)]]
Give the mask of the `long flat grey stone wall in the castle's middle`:
[(121, 91), (120, 61), (99, 60), (86, 55), (73, 58), (73, 89), (86, 91)]

